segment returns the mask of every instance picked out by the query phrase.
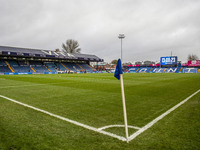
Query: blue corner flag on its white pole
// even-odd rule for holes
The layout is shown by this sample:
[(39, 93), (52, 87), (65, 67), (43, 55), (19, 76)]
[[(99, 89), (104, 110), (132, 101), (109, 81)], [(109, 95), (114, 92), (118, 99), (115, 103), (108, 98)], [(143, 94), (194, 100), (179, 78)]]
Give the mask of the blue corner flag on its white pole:
[(125, 103), (124, 81), (123, 81), (121, 59), (118, 59), (117, 61), (114, 77), (117, 78), (118, 80), (121, 80), (122, 104), (123, 104), (123, 112), (124, 112), (124, 127), (125, 127), (125, 133), (126, 133), (126, 141), (128, 143), (128, 122), (127, 122), (127, 114), (126, 114), (126, 103)]

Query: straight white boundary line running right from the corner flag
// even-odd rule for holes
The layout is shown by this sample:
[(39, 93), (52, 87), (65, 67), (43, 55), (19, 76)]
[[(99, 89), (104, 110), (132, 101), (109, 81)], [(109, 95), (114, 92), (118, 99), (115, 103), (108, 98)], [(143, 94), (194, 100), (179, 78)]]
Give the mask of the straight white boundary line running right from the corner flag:
[(176, 108), (178, 108), (179, 106), (181, 106), (182, 104), (184, 104), (185, 102), (187, 102), (190, 98), (192, 98), (194, 95), (196, 95), (198, 92), (200, 92), (200, 89), (197, 90), (196, 92), (194, 92), (192, 95), (188, 96), (186, 99), (184, 99), (183, 101), (181, 101), (180, 103), (178, 103), (177, 105), (175, 105), (174, 107), (170, 108), (169, 110), (167, 110), (165, 113), (163, 113), (162, 115), (160, 115), (159, 117), (157, 117), (156, 119), (152, 120), (151, 122), (149, 122), (147, 125), (145, 125), (144, 127), (142, 127), (141, 129), (139, 129), (138, 131), (136, 131), (135, 133), (133, 133), (131, 136), (129, 136), (128, 141), (133, 140), (134, 138), (136, 138), (138, 135), (140, 135), (141, 133), (143, 133), (145, 130), (149, 129), (151, 126), (153, 126), (155, 123), (157, 123), (159, 120), (161, 120), (162, 118), (164, 118), (165, 116), (167, 116), (169, 113), (171, 113), (172, 111), (174, 111)]

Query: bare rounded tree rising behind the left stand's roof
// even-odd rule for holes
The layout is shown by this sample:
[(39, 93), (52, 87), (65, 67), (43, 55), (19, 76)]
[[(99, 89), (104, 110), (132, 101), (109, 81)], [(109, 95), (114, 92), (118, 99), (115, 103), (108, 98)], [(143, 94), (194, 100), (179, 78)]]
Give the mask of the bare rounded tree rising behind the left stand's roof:
[(81, 48), (79, 48), (78, 41), (69, 39), (66, 41), (66, 43), (62, 44), (62, 48), (67, 53), (80, 53)]

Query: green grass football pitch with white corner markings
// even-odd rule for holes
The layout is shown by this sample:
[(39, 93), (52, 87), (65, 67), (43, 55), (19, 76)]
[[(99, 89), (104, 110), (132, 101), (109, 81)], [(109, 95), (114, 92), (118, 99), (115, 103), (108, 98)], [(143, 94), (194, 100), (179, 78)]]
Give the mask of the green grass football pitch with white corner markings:
[(113, 74), (2, 75), (0, 150), (199, 149), (200, 74), (129, 73), (124, 89), (129, 143)]

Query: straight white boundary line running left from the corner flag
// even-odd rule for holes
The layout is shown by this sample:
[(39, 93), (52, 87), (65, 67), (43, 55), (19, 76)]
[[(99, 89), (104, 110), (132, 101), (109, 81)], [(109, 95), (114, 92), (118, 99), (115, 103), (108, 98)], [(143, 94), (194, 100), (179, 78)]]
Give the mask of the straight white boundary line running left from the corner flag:
[(22, 105), (22, 106), (31, 108), (31, 109), (33, 109), (33, 110), (42, 112), (42, 113), (47, 114), (47, 115), (49, 115), (49, 116), (52, 116), (52, 117), (55, 117), (55, 118), (64, 120), (64, 121), (66, 121), (66, 122), (72, 123), (72, 124), (74, 124), (74, 125), (77, 125), (77, 126), (86, 128), (86, 129), (88, 129), (88, 130), (92, 130), (92, 131), (95, 131), (95, 132), (98, 132), (98, 133), (101, 133), (101, 134), (104, 134), (104, 135), (108, 135), (108, 136), (113, 137), (113, 138), (116, 138), (116, 139), (118, 139), (118, 140), (120, 140), (120, 141), (126, 141), (126, 138), (125, 138), (125, 137), (122, 137), (122, 136), (119, 136), (119, 135), (116, 135), (116, 134), (113, 134), (113, 133), (110, 133), (110, 132), (107, 132), (107, 131), (98, 130), (98, 129), (95, 128), (95, 127), (91, 127), (91, 126), (82, 124), (82, 123), (80, 123), (80, 122), (77, 122), (77, 121), (74, 121), (74, 120), (71, 120), (71, 119), (68, 119), (68, 118), (65, 118), (65, 117), (62, 117), (62, 116), (59, 116), (59, 115), (50, 113), (50, 112), (48, 112), (48, 111), (45, 111), (45, 110), (42, 110), (42, 109), (39, 109), (39, 108), (30, 106), (30, 105), (21, 103), (21, 102), (19, 102), (19, 101), (16, 101), (16, 100), (14, 100), (14, 99), (8, 98), (8, 97), (3, 96), (3, 95), (0, 95), (0, 97), (1, 97), (1, 98), (4, 98), (4, 99), (7, 99), (7, 100), (9, 100), (9, 101), (12, 101), (12, 102), (14, 102), (14, 103), (17, 103), (17, 104), (19, 104), (19, 105)]

